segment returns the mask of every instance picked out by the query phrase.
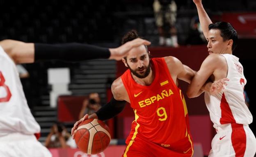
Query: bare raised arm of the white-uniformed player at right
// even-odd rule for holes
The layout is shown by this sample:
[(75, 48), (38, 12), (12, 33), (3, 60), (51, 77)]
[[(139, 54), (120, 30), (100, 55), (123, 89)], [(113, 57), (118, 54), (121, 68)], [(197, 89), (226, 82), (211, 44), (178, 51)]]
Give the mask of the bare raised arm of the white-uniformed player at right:
[(205, 36), (205, 38), (207, 38), (207, 34), (209, 32), (208, 26), (213, 22), (210, 20), (209, 16), (204, 10), (202, 0), (193, 0), (193, 2), (197, 6), (197, 12), (198, 12), (201, 28), (203, 30), (203, 35)]

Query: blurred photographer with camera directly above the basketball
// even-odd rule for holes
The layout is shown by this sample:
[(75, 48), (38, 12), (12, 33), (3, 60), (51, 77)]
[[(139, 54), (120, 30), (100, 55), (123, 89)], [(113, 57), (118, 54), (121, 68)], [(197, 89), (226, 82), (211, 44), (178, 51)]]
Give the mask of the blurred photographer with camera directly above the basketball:
[(89, 97), (83, 101), (82, 109), (79, 114), (79, 119), (86, 114), (91, 115), (101, 108), (101, 98), (98, 93), (91, 93)]

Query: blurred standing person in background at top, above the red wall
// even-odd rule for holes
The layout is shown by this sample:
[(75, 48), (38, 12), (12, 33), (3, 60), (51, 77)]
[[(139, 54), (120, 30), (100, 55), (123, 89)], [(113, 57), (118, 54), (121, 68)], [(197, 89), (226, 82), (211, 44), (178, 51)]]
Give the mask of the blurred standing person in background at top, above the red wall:
[[(159, 45), (178, 47), (177, 29), (175, 27), (177, 5), (175, 1), (154, 0), (153, 10), (158, 27)], [(168, 27), (169, 31), (165, 31), (166, 27)]]

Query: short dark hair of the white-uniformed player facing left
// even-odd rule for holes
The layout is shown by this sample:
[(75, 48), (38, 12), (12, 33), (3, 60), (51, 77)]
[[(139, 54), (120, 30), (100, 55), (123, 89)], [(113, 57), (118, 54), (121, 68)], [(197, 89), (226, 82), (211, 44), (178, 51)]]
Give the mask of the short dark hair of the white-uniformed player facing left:
[(209, 30), (211, 29), (219, 29), (220, 36), (223, 38), (223, 41), (233, 40), (232, 51), (234, 51), (237, 46), (238, 35), (235, 31), (234, 27), (229, 22), (216, 22), (209, 25)]

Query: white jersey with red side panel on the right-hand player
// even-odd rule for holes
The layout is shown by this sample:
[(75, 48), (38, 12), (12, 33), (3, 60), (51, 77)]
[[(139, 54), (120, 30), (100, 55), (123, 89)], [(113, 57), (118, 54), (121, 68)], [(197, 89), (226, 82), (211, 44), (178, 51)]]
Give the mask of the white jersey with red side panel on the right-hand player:
[(239, 58), (223, 54), (228, 65), (227, 86), (221, 93), (210, 95), (205, 92), (206, 106), (215, 126), (221, 124), (251, 124), (252, 115), (245, 104), (244, 87), (246, 79)]

